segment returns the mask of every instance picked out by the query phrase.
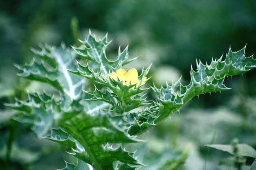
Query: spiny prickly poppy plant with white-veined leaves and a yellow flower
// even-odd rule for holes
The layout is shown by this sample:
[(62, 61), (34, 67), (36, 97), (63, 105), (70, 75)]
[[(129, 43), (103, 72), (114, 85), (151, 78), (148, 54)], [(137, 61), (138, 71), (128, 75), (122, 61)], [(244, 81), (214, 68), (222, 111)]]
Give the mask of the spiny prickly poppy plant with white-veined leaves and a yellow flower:
[[(196, 70), (191, 68), (188, 85), (178, 80), (166, 88), (152, 87), (157, 100), (148, 101), (150, 66), (140, 74), (136, 68), (127, 70), (125, 65), (136, 59), (128, 58), (128, 48), (119, 50), (116, 60), (109, 60), (107, 35), (97, 40), (89, 33), (81, 43), (72, 48), (45, 45), (39, 51), (33, 50), (31, 63), (16, 65), (19, 75), (49, 84), (58, 93), (29, 93), (27, 100), (16, 99), (15, 104), (8, 104), (19, 111), (15, 119), (32, 124), (38, 137), (70, 148), (68, 153), (76, 161), (67, 163), (65, 170), (146, 169), (126, 145), (142, 142), (139, 135), (179, 111), (193, 97), (229, 90), (223, 84), (225, 77), (256, 68), (256, 60), (245, 57), (245, 48), (237, 52), (230, 49), (225, 59), (220, 57), (210, 64), (197, 62)], [(137, 108), (142, 109), (136, 112)], [(232, 151), (231, 146), (209, 147), (236, 156), (240, 153), (238, 149)], [(172, 163), (166, 161), (159, 169), (170, 170)]]

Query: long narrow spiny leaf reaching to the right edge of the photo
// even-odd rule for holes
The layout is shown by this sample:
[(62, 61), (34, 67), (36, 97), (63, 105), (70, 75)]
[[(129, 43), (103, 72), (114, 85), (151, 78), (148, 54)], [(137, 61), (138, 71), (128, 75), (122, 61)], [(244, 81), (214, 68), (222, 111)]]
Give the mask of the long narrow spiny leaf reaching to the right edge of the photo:
[(245, 57), (245, 47), (240, 51), (233, 52), (229, 49), (226, 59), (212, 60), (211, 64), (197, 62), (197, 71), (191, 67), (191, 81), (184, 86), (178, 80), (166, 88), (160, 89), (153, 87), (157, 93), (159, 102), (154, 102), (154, 106), (139, 112), (135, 117), (135, 124), (129, 130), (129, 134), (141, 134), (148, 129), (156, 126), (164, 119), (180, 110), (193, 97), (204, 93), (226, 91), (223, 82), (225, 77), (243, 74), (252, 68), (256, 68), (256, 60)]

